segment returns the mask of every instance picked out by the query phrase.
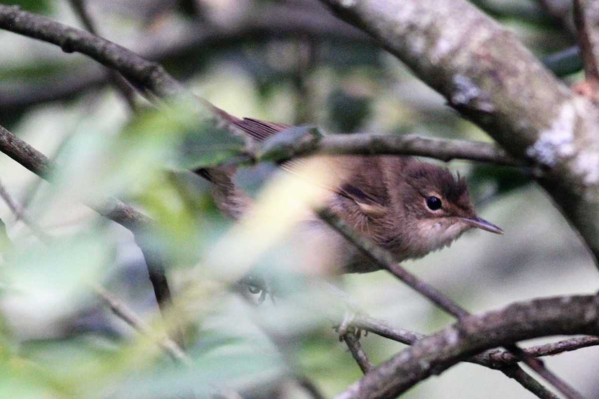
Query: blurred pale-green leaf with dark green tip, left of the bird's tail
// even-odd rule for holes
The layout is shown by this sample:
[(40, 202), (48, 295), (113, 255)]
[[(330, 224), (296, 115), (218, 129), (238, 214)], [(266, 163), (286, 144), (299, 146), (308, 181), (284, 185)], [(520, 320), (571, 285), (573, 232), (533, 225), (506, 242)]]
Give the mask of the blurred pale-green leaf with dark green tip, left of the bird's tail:
[(57, 194), (69, 188), (75, 198), (128, 196), (143, 190), (157, 173), (214, 165), (244, 148), (240, 138), (216, 129), (195, 102), (141, 109), (121, 129), (118, 119), (102, 126), (107, 117), (101, 111), (82, 120), (62, 146)]

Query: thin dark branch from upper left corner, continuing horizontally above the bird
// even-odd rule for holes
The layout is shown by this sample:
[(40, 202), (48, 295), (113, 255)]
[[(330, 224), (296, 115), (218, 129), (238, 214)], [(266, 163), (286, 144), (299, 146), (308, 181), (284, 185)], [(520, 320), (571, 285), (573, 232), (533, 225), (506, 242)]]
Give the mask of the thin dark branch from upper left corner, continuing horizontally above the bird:
[[(141, 85), (160, 97), (172, 95), (189, 97), (186, 89), (168, 75), (158, 63), (147, 61), (126, 48), (89, 32), (5, 5), (0, 5), (0, 28), (48, 41), (63, 48), (66, 46), (69, 51), (86, 54), (103, 65), (116, 69), (132, 83)], [(200, 103), (213, 112), (212, 116), (222, 123), (223, 118), (219, 118), (222, 111), (216, 111), (216, 108), (207, 102), (200, 101)], [(500, 165), (515, 165), (505, 151), (480, 142), (441, 141), (413, 136), (401, 138), (391, 135), (331, 135), (323, 138), (319, 146), (316, 151), (330, 154), (413, 154), (441, 160), (463, 158)], [(366, 150), (360, 147), (365, 147)]]

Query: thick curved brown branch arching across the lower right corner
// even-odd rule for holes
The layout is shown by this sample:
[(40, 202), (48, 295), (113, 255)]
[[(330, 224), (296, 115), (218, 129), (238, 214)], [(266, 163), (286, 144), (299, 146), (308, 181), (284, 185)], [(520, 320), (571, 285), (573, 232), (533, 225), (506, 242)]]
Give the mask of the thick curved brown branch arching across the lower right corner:
[(374, 368), (336, 399), (395, 398), (420, 380), (477, 352), (561, 334), (599, 334), (599, 298), (536, 299), (466, 316)]

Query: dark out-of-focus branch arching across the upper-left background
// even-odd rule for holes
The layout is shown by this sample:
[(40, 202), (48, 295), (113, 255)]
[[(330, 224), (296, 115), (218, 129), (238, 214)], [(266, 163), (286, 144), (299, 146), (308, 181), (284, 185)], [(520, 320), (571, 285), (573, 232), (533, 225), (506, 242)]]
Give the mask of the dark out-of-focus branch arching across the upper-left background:
[[(80, 0), (73, 0), (80, 1)], [(256, 41), (268, 37), (305, 35), (314, 41), (335, 39), (355, 42), (373, 42), (359, 29), (338, 20), (318, 8), (290, 7), (269, 4), (250, 10), (243, 20), (228, 24), (207, 24), (195, 21), (171, 29), (152, 29), (134, 43), (132, 51), (156, 62), (177, 62), (190, 53), (202, 53), (206, 48), (232, 41)], [(174, 59), (174, 60), (173, 60)], [(0, 88), (0, 112), (13, 111), (42, 102), (71, 98), (81, 90), (104, 85), (108, 72), (98, 66), (84, 65), (69, 68), (51, 81), (28, 81), (8, 89)]]

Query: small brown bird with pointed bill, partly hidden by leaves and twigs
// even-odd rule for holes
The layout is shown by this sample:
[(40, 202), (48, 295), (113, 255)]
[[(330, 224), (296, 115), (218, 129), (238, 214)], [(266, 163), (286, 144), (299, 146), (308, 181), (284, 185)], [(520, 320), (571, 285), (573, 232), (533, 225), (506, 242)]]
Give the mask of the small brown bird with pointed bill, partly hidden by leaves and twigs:
[[(287, 129), (286, 124), (243, 120), (217, 109), (232, 125), (263, 141)], [(368, 239), (391, 251), (397, 261), (420, 258), (450, 245), (473, 227), (503, 234), (477, 217), (464, 178), (444, 167), (407, 156), (340, 156), (334, 158), (343, 180), (331, 188), (327, 206)], [(216, 203), (225, 213), (240, 217), (249, 200), (232, 182), (234, 167), (199, 169), (213, 185)], [(332, 266), (344, 273), (379, 270), (369, 258), (338, 233), (314, 219), (305, 236), (310, 245), (332, 253)]]

